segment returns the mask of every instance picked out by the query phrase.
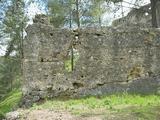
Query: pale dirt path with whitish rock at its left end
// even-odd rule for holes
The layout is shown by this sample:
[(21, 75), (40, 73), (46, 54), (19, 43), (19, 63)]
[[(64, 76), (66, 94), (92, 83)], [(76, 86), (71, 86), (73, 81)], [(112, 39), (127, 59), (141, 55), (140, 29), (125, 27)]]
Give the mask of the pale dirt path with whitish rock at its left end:
[(100, 112), (86, 113), (83, 115), (74, 115), (65, 111), (43, 109), (43, 110), (18, 110), (16, 112), (11, 113), (6, 120), (123, 120), (123, 119), (119, 119), (111, 114), (100, 113)]

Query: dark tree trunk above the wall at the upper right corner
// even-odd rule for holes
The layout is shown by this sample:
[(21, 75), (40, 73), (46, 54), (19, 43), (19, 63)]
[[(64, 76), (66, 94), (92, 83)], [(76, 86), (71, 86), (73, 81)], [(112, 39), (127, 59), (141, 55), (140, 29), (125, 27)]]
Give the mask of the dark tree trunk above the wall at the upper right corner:
[(158, 0), (150, 0), (151, 2), (151, 14), (152, 14), (152, 27), (157, 28), (157, 16), (156, 16), (156, 3)]

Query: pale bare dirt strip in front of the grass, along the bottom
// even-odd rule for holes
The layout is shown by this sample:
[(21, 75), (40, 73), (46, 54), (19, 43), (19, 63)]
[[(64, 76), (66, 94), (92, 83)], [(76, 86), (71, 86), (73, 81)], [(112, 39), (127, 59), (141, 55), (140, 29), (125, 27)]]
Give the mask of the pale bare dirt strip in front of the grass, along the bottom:
[[(7, 120), (143, 120), (136, 114), (115, 114), (97, 111), (96, 113), (86, 113), (83, 115), (73, 115), (65, 111), (56, 110), (20, 110), (16, 119)], [(145, 120), (145, 119), (144, 119)], [(156, 119), (160, 120), (160, 119)]]

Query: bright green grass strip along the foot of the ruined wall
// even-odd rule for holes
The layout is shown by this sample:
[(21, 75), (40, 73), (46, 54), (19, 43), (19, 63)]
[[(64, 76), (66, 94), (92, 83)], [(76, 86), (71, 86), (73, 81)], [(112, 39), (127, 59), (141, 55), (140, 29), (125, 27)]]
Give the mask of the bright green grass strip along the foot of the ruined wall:
[(141, 118), (140, 120), (154, 120), (157, 115), (160, 115), (160, 96), (124, 94), (66, 101), (52, 100), (41, 105), (34, 104), (31, 110), (35, 109), (67, 110), (76, 115), (87, 115), (94, 112), (106, 114), (109, 111), (118, 115), (122, 114), (122, 116), (132, 114)]

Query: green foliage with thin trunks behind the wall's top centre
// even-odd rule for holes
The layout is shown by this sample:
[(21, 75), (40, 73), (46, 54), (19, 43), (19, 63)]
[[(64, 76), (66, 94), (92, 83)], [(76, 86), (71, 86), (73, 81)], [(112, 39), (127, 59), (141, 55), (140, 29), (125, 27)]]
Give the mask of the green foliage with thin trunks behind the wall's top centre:
[(108, 10), (104, 3), (104, 0), (49, 0), (50, 21), (55, 27), (101, 26), (101, 17)]

